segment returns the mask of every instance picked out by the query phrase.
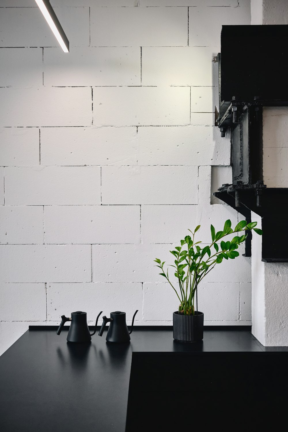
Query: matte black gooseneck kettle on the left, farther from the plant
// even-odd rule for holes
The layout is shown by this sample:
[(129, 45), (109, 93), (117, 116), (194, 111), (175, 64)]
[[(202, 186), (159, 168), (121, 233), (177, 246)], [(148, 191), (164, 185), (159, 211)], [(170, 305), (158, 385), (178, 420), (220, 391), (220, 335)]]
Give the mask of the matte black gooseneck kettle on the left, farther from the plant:
[(67, 318), (65, 315), (61, 315), (62, 321), (60, 326), (58, 327), (56, 334), (59, 335), (61, 333), (61, 330), (63, 329), (66, 321), (71, 321), (69, 331), (68, 331), (67, 341), (76, 342), (76, 343), (90, 342), (91, 336), (93, 336), (93, 334), (96, 333), (96, 326), (98, 323), (98, 318), (100, 317), (101, 313), (102, 311), (100, 312), (100, 314), (96, 319), (95, 330), (91, 334), (87, 324), (86, 312), (82, 312), (82, 311), (72, 312), (71, 318)]

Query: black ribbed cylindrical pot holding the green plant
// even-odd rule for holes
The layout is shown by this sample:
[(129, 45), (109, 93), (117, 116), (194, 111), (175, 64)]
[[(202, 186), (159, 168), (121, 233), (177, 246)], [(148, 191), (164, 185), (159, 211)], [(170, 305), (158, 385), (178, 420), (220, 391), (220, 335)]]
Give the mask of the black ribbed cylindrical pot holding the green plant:
[(180, 342), (196, 342), (203, 339), (204, 314), (183, 315), (173, 312), (173, 338)]

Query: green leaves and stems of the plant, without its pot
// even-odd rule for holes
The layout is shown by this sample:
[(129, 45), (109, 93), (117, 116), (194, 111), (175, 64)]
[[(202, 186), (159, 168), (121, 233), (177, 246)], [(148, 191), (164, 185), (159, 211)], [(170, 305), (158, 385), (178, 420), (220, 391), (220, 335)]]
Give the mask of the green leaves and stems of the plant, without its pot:
[[(192, 237), (187, 235), (184, 240), (180, 240), (180, 246), (176, 246), (174, 251), (170, 251), (176, 258), (174, 261), (175, 265), (168, 265), (168, 267), (174, 267), (174, 276), (177, 278), (176, 283), (179, 287), (175, 288), (175, 283), (171, 282), (171, 278), (168, 275), (168, 269), (165, 273), (164, 264), (165, 261), (161, 262), (159, 258), (154, 261), (157, 263), (157, 267), (161, 269), (161, 276), (163, 276), (171, 287), (176, 292), (179, 299), (179, 312), (184, 315), (194, 315), (194, 297), (197, 296), (197, 286), (199, 282), (203, 280), (216, 264), (221, 264), (222, 260), (234, 260), (239, 256), (239, 252), (236, 251), (238, 246), (243, 243), (247, 234), (246, 231), (255, 231), (257, 234), (262, 235), (262, 230), (254, 228), (257, 222), (250, 222), (247, 224), (245, 220), (241, 220), (237, 223), (234, 230), (231, 228), (231, 220), (226, 220), (223, 231), (215, 232), (215, 228), (211, 225), (211, 245), (206, 245), (203, 248), (199, 246), (202, 241), (194, 242), (195, 233), (199, 230), (200, 225), (196, 226), (194, 231), (190, 231)], [(243, 233), (241, 236), (238, 234), (234, 236), (231, 241), (222, 240), (220, 245), (217, 243), (221, 238), (226, 237), (234, 233)]]

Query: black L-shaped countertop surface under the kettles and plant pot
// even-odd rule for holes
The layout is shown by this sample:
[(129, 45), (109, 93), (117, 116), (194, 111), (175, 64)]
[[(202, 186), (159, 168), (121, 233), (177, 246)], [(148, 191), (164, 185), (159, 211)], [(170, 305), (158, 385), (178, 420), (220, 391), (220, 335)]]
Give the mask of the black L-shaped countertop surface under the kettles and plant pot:
[(204, 327), (202, 342), (178, 343), (172, 327), (134, 327), (131, 342), (67, 343), (68, 327), (30, 326), (0, 357), (3, 432), (125, 431), (132, 353), (288, 351), (264, 347), (251, 327)]

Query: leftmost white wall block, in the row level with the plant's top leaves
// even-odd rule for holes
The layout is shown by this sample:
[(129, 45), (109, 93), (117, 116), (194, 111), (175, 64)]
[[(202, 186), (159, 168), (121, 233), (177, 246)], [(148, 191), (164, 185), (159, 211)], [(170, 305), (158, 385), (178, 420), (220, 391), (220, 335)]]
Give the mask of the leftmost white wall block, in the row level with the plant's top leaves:
[(43, 206), (0, 206), (0, 244), (41, 244)]

